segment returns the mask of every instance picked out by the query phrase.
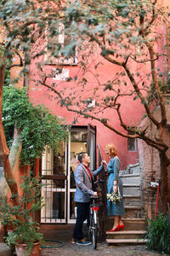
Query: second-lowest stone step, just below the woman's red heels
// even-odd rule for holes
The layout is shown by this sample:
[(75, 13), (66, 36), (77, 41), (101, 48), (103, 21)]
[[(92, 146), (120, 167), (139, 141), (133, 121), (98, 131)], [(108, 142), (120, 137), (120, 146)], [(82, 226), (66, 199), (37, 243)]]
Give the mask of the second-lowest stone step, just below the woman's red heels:
[(142, 239), (146, 234), (145, 230), (125, 230), (116, 232), (106, 232), (107, 239)]

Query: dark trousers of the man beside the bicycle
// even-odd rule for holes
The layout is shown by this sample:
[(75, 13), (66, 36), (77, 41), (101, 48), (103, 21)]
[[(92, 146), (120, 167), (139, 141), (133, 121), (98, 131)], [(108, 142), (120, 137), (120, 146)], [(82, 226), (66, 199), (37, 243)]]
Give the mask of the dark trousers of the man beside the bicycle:
[(89, 217), (89, 202), (77, 202), (77, 223), (73, 233), (73, 238), (82, 240), (82, 225), (83, 222)]

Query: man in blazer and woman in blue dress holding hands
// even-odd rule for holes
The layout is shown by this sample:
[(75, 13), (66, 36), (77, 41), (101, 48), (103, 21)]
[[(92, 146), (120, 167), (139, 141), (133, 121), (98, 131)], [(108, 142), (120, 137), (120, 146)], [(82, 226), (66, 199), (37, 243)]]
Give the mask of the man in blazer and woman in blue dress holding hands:
[[(83, 222), (88, 218), (90, 196), (98, 195), (94, 191), (94, 177), (99, 175), (100, 172), (104, 171), (104, 166), (107, 166), (108, 181), (107, 181), (107, 193), (117, 192), (120, 189), (122, 195), (122, 181), (119, 177), (120, 171), (120, 160), (116, 154), (116, 148), (114, 144), (108, 144), (105, 146), (105, 153), (111, 158), (107, 165), (105, 160), (101, 162), (99, 169), (92, 172), (89, 169), (90, 157), (87, 153), (81, 153), (78, 155), (80, 162), (79, 166), (75, 171), (75, 183), (77, 190), (75, 192), (74, 200), (77, 202), (77, 223), (73, 233), (71, 243), (77, 243), (78, 245), (89, 245), (91, 242), (87, 241), (82, 236), (82, 225)], [(113, 204), (111, 201), (107, 201), (107, 212), (108, 216), (114, 216), (114, 224), (111, 232), (118, 231), (124, 228), (121, 216), (125, 214), (123, 200)]]

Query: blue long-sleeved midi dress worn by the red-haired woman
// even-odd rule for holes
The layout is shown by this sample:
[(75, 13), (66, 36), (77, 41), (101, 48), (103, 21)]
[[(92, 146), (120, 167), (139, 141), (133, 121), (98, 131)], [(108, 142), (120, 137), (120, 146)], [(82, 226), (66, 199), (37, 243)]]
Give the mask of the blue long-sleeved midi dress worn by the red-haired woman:
[[(120, 160), (117, 156), (114, 158), (111, 158), (109, 164), (107, 165), (107, 172), (108, 172), (108, 180), (107, 180), (107, 193), (113, 192), (113, 184), (114, 180), (117, 181), (117, 186), (119, 186), (120, 193), (122, 195), (122, 180), (119, 177), (119, 171), (120, 171)], [(121, 201), (118, 201), (116, 205), (112, 203), (111, 201), (107, 200), (107, 215), (116, 215), (116, 216), (122, 216), (125, 214), (123, 199)]]

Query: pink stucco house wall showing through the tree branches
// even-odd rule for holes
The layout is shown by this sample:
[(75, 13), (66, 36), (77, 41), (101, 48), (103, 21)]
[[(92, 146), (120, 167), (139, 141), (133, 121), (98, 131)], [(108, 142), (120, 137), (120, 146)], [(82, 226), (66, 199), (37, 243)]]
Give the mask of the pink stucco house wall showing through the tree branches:
[[(164, 34), (165, 30), (166, 29), (163, 25), (160, 26), (159, 32)], [(164, 38), (159, 40), (156, 46), (159, 52), (162, 51), (163, 40)], [(37, 45), (36, 50), (41, 50), (43, 44), (44, 42), (40, 41), (39, 44)], [(81, 57), (81, 53), (80, 55), (78, 55), (79, 59), (80, 57)], [(39, 61), (40, 60), (43, 61), (43, 56), (39, 58)], [(81, 88), (79, 89), (75, 84), (75, 82), (67, 83), (65, 81), (55, 81), (53, 78), (48, 78), (46, 80), (46, 83), (49, 85), (55, 83), (55, 86), (57, 89), (66, 88), (65, 90), (66, 94), (69, 94), (71, 92), (71, 88), (76, 88), (74, 89), (76, 91), (76, 96), (77, 97), (81, 96), (81, 98), (84, 99), (89, 97), (90, 89), (96, 86), (96, 79), (94, 78), (91, 72), (97, 72), (99, 74), (99, 81), (101, 83), (105, 83), (105, 81), (109, 79), (113, 79), (116, 76), (117, 71), (120, 71), (121, 69), (121, 67), (117, 67), (108, 61), (104, 61), (102, 57), (99, 55), (98, 49), (96, 49), (94, 56), (92, 56), (89, 59), (89, 61), (91, 61), (90, 70), (88, 73), (85, 74), (86, 78), (88, 79), (87, 90), (85, 89), (82, 92)], [(102, 65), (99, 65), (97, 70), (95, 70), (94, 66), (96, 65), (96, 63), (99, 63), (99, 61), (102, 61)], [(161, 57), (161, 59), (157, 62), (157, 67), (161, 67), (162, 71), (165, 71), (165, 67), (166, 67), (165, 61), (166, 61), (165, 57)], [(141, 65), (141, 64), (137, 64), (134, 61), (129, 61), (128, 65), (130, 69), (133, 70), (134, 73), (140, 72), (141, 77), (144, 77), (144, 74), (148, 72), (148, 67), (149, 67), (148, 65), (150, 64), (149, 62), (147, 62), (145, 65)], [(57, 66), (46, 65), (45, 67), (43, 67), (43, 74), (50, 73), (54, 67), (57, 67)], [(74, 78), (78, 72), (79, 72), (79, 76), (81, 76), (78, 66), (65, 66), (65, 68), (69, 69), (71, 78)], [(53, 92), (48, 91), (42, 85), (35, 86), (35, 80), (39, 78), (40, 78), (40, 73), (37, 71), (36, 60), (31, 61), (30, 81), (29, 81), (29, 89), (30, 89), (29, 93), (30, 93), (31, 101), (34, 102), (35, 104), (43, 103), (46, 107), (50, 108), (55, 114), (65, 118), (67, 124), (70, 125), (74, 117), (77, 116), (76, 113), (71, 113), (71, 112), (68, 112), (65, 108), (60, 108), (59, 103), (57, 103), (57, 101), (55, 100), (55, 95)], [(136, 79), (139, 82), (139, 86), (141, 86), (142, 81), (144, 79), (141, 79), (140, 77)], [(150, 83), (150, 81), (147, 80), (147, 83)], [(133, 89), (132, 84), (130, 84), (128, 79), (127, 79), (127, 86), (125, 87), (121, 85), (121, 87), (122, 87), (122, 90), (126, 93)], [(111, 92), (107, 92), (107, 93), (109, 95)], [(97, 94), (99, 98), (102, 99), (102, 96), (103, 96), (102, 87), (99, 89)], [(120, 102), (122, 103), (122, 118), (127, 123), (127, 125), (139, 125), (142, 119), (142, 116), (144, 114), (144, 108), (142, 104), (139, 102), (139, 100), (133, 101), (132, 97), (126, 96), (126, 97), (123, 97), (120, 100)], [(101, 116), (102, 118), (108, 118), (110, 125), (113, 125), (114, 128), (122, 131), (116, 112), (112, 111), (111, 109), (107, 109), (103, 113), (99, 113), (99, 117)], [(105, 156), (105, 150), (104, 150), (105, 144), (114, 143), (116, 145), (118, 155), (122, 162), (122, 170), (125, 169), (127, 165), (135, 164), (136, 162), (139, 161), (138, 152), (127, 151), (127, 138), (116, 135), (116, 133), (109, 130), (108, 128), (106, 128), (104, 125), (102, 125), (96, 120), (84, 119), (80, 117), (78, 119), (77, 125), (88, 125), (88, 123), (96, 125), (97, 127), (97, 143), (100, 145), (100, 148), (102, 149), (104, 156)]]

